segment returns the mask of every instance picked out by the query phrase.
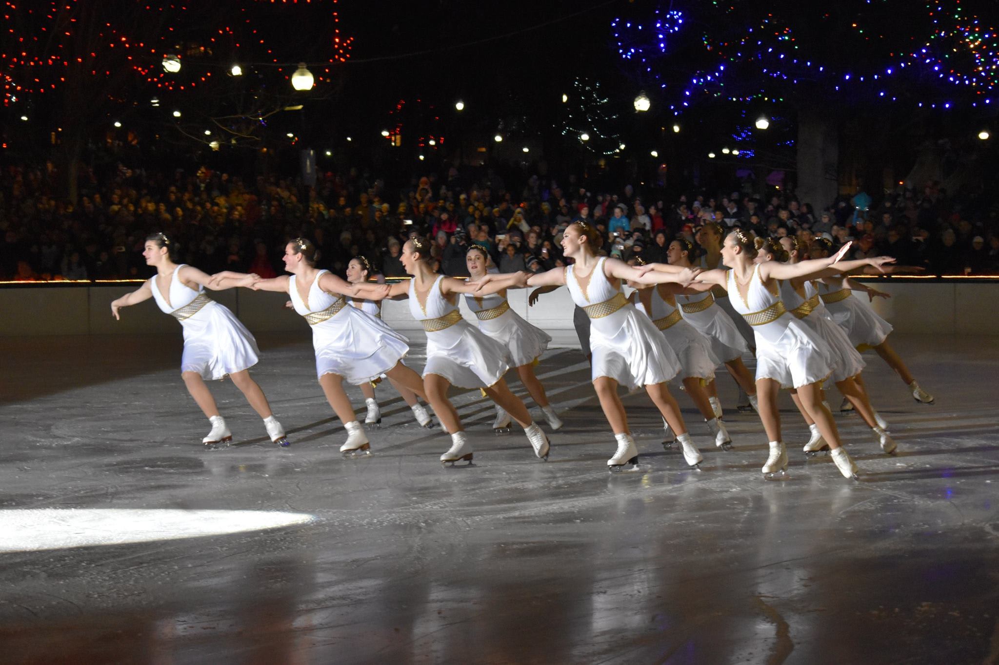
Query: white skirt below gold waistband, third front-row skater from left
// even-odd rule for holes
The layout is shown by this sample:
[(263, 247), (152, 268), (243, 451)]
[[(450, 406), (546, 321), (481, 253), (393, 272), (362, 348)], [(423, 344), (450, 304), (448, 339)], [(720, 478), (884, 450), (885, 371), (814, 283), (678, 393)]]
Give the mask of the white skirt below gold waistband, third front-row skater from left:
[(427, 333), (425, 378), (437, 374), (457, 388), (489, 388), (500, 381), (511, 363), (505, 346), (468, 321)]

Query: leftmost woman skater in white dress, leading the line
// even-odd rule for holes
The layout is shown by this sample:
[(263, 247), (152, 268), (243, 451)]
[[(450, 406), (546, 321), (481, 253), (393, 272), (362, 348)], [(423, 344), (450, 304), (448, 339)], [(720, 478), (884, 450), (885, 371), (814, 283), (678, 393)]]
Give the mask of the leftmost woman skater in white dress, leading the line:
[(184, 330), (184, 353), (181, 356), (181, 376), (191, 397), (201, 407), (212, 424), (212, 431), (202, 440), (206, 447), (229, 443), (233, 435), (219, 415), (215, 398), (205, 385), (206, 379), (223, 379), (226, 375), (246, 396), (247, 402), (261, 418), (271, 441), (288, 446), (285, 430), (274, 417), (271, 406), (250, 368), (257, 364), (260, 351), (257, 340), (240, 320), (205, 295), (205, 288), (222, 290), (238, 286), (238, 280), (220, 280), (190, 265), (177, 265), (170, 259), (171, 241), (163, 233), (146, 238), (142, 255), (146, 264), (156, 268), (156, 275), (147, 279), (136, 291), (111, 303), (111, 313), (120, 319), (119, 310), (155, 298), (160, 309), (174, 316)]

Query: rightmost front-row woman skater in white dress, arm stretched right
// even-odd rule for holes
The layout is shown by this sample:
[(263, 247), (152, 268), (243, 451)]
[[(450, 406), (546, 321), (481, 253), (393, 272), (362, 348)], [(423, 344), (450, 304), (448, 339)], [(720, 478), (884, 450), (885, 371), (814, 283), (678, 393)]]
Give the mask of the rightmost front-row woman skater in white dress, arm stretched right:
[[(753, 263), (756, 247), (752, 236), (736, 229), (725, 237), (721, 247), (724, 264), (732, 268), (706, 270), (696, 277), (698, 282), (725, 287), (735, 311), (753, 326), (756, 397), (759, 416), (770, 440), (770, 454), (762, 468), (764, 478), (783, 475), (787, 469), (787, 451), (781, 439), (777, 409), (781, 387), (797, 390), (801, 404), (832, 450), (836, 468), (844, 478), (857, 478), (857, 467), (842, 447), (832, 414), (822, 404), (822, 382), (836, 369), (836, 358), (818, 333), (787, 312), (777, 286), (778, 279), (804, 277), (829, 267), (847, 248), (849, 243), (831, 258), (795, 265), (775, 262), (757, 265)], [(659, 264), (644, 268), (659, 269)]]

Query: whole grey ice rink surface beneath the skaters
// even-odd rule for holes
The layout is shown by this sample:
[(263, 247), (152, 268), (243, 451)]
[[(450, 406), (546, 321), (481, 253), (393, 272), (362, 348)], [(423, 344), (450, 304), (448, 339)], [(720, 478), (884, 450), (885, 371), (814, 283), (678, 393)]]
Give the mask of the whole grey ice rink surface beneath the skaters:
[(254, 370), (292, 447), (226, 381), (210, 387), (239, 445), (218, 451), (179, 332), (0, 340), (2, 660), (999, 662), (999, 344), (892, 340), (936, 404), (865, 355), (900, 454), (837, 416), (859, 483), (806, 461), (786, 396), (789, 477), (763, 481), (766, 437), (721, 375), (733, 451), (674, 389), (704, 455), (687, 470), (636, 394), (641, 468), (610, 475), (572, 349), (537, 368), (565, 422), (547, 463), (456, 392), (475, 466), (444, 469), (450, 439), (387, 385), (374, 455), (342, 459), (306, 336), (262, 337)]

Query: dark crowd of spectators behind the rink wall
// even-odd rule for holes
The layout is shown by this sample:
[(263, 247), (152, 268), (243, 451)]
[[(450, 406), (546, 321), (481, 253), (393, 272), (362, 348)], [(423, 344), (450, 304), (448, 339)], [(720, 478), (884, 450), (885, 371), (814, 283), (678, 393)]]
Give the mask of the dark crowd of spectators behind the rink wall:
[(291, 177), (247, 180), (205, 167), (118, 166), (83, 173), (77, 204), (56, 195), (56, 179), (47, 165), (0, 172), (0, 279), (144, 278), (143, 241), (156, 231), (171, 237), (176, 260), (207, 272), (275, 276), (287, 240), (304, 236), (316, 242), (322, 267), (342, 273), (364, 254), (387, 277), (403, 276), (399, 256), (412, 234), (433, 238), (433, 260), (449, 275), (467, 274), (473, 243), (502, 272), (539, 271), (563, 265), (561, 233), (576, 220), (601, 232), (606, 254), (626, 261), (665, 261), (670, 240), (696, 241), (713, 220), (758, 235), (794, 234), (802, 246), (815, 236), (837, 246), (853, 239), (855, 256), (887, 254), (927, 274), (999, 274), (999, 208), (933, 185), (900, 187), (879, 201), (841, 196), (815, 211), (779, 192), (667, 200), (629, 184), (594, 191), (573, 176), (536, 175), (507, 183), (492, 170), (470, 177), (455, 167), (389, 188), (358, 169), (304, 187)]

